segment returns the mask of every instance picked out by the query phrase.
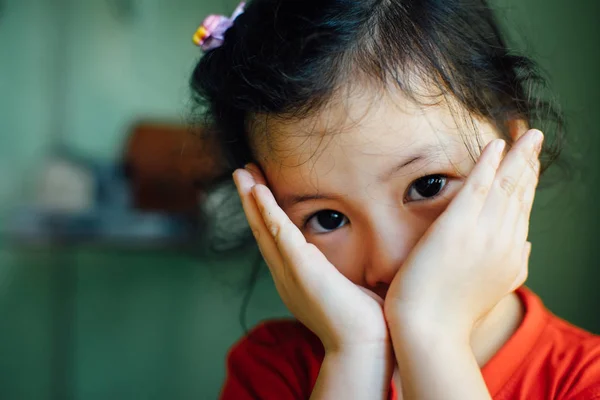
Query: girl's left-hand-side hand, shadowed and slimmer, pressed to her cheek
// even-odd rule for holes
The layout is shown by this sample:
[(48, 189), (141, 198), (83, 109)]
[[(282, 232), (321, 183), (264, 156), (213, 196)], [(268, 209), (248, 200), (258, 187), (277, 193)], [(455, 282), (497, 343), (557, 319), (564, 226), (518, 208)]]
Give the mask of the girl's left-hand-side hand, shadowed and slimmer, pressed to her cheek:
[(258, 167), (235, 171), (234, 181), (277, 291), (292, 314), (327, 352), (379, 348), (389, 349), (391, 356), (383, 300), (349, 281), (306, 242), (277, 205)]

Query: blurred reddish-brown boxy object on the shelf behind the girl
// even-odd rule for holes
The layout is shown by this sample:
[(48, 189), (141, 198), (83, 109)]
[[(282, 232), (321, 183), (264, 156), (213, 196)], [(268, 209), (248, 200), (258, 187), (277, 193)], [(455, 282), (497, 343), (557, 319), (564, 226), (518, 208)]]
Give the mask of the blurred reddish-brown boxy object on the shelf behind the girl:
[(201, 133), (189, 126), (161, 123), (134, 126), (124, 154), (134, 207), (198, 212), (202, 186), (223, 172), (215, 141)]

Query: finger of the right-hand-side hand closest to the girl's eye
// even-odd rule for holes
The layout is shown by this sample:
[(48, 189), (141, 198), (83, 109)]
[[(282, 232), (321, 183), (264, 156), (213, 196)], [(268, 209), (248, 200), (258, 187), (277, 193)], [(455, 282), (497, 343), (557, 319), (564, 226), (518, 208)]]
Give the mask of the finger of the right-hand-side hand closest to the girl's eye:
[(446, 209), (447, 215), (479, 216), (494, 182), (506, 142), (496, 139), (488, 143), (473, 167), (464, 186)]

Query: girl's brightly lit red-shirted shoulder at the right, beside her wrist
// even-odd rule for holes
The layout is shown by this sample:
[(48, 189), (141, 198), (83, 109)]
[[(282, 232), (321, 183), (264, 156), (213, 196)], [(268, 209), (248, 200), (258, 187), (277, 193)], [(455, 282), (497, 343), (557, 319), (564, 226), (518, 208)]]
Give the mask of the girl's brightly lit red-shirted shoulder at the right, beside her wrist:
[(600, 336), (550, 312), (529, 289), (524, 320), (483, 368), (498, 399), (600, 399)]

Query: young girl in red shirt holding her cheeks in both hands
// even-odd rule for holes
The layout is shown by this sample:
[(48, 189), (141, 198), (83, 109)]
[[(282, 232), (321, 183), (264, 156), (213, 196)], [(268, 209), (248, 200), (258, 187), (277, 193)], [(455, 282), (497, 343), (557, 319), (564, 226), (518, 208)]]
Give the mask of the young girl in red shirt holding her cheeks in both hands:
[(254, 0), (195, 40), (297, 318), (233, 347), (222, 399), (600, 399), (600, 339), (522, 286), (562, 119), (484, 0)]

